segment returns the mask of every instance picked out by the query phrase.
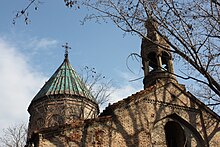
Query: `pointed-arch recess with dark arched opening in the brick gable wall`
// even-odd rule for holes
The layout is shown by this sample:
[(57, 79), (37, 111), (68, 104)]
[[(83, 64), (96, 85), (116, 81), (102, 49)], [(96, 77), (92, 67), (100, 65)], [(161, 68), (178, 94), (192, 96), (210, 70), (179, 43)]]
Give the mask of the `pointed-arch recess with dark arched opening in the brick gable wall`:
[[(171, 141), (171, 137), (174, 141)], [(153, 146), (158, 147), (206, 146), (202, 136), (196, 128), (175, 113), (160, 119), (154, 124), (151, 130), (151, 139)], [(176, 145), (173, 142), (177, 142)]]

